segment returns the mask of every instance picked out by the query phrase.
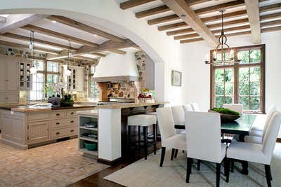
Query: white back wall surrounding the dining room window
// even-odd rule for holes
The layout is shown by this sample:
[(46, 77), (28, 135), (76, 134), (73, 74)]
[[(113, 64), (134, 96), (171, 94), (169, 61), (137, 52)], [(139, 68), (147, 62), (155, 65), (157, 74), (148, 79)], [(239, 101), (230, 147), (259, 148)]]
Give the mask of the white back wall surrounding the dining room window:
[[(228, 41), (232, 47), (253, 45), (251, 35), (230, 37)], [(275, 105), (281, 110), (281, 32), (262, 34), (261, 43), (266, 44), (266, 109)], [(198, 102), (201, 109), (207, 111), (210, 106), (210, 69), (204, 64), (204, 56), (211, 48), (202, 41), (183, 44), (181, 50), (186, 59), (185, 100)]]

